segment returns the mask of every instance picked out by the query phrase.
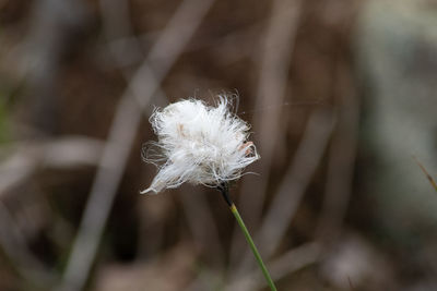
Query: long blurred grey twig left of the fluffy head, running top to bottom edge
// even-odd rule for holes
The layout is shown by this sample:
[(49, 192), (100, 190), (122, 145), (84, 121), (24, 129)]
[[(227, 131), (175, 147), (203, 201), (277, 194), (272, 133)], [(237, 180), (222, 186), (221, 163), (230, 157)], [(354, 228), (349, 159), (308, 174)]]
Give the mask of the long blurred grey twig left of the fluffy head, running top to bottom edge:
[[(212, 3), (213, 0), (181, 2), (121, 96), (63, 280), (58, 290), (82, 290), (125, 171), (128, 155), (141, 121), (142, 110), (149, 105), (162, 80), (177, 60)], [(151, 64), (156, 68), (155, 71), (150, 68)]]

